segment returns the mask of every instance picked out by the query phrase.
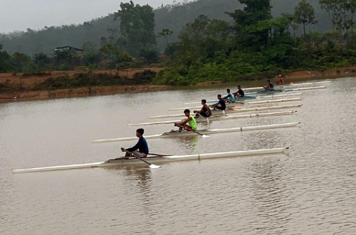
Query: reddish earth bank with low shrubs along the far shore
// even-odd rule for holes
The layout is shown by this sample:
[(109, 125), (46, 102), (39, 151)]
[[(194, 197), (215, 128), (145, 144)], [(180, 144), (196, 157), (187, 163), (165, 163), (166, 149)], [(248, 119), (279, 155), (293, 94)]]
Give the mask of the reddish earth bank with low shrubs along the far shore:
[[(108, 74), (100, 71), (83, 75), (75, 71), (53, 71), (45, 75), (23, 76), (22, 74), (0, 74), (0, 101), (14, 100), (43, 100), (53, 98), (75, 98), (88, 95), (112, 95), (117, 93), (141, 93), (152, 90), (165, 90), (168, 85), (151, 84), (155, 73), (161, 68), (131, 70), (130, 78), (120, 76), (117, 72)], [(78, 72), (78, 71), (77, 71)], [(115, 72), (115, 71), (114, 71)], [(283, 74), (286, 83), (298, 80), (315, 80), (326, 78), (356, 77), (356, 66), (332, 68), (327, 71), (298, 71)], [(273, 78), (266, 78), (273, 79)], [(236, 81), (236, 83), (242, 80)], [(221, 83), (221, 80), (198, 83), (195, 85), (209, 85)], [(19, 89), (21, 87), (21, 89)], [(2, 89), (1, 89), (2, 88)]]

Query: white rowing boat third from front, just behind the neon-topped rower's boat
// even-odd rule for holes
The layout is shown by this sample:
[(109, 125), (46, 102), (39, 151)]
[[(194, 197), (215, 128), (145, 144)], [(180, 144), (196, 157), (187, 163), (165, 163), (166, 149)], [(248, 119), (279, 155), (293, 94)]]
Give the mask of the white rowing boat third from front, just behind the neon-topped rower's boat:
[[(240, 119), (240, 118), (253, 118), (253, 117), (274, 117), (274, 116), (282, 116), (282, 115), (292, 115), (297, 111), (285, 111), (279, 113), (256, 113), (256, 114), (248, 114), (248, 115), (224, 115), (224, 116), (213, 116), (213, 117), (198, 117), (198, 123), (201, 122), (210, 122), (215, 120), (232, 120), (232, 119)], [(129, 126), (137, 126), (137, 125), (161, 125), (161, 124), (172, 124), (174, 122), (181, 122), (182, 120), (168, 120), (162, 122), (140, 122), (140, 123), (132, 123)]]

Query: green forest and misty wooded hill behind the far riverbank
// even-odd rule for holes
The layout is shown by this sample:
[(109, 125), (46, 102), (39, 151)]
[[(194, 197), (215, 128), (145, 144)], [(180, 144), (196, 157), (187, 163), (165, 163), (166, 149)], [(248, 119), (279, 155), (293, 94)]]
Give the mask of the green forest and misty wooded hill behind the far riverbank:
[[(191, 85), (356, 64), (354, 0), (197, 0), (158, 9), (129, 1), (118, 8), (80, 25), (0, 34), (0, 73), (79, 70), (83, 80), (92, 70), (152, 66), (164, 69), (135, 84)], [(114, 77), (107, 76), (106, 85)]]

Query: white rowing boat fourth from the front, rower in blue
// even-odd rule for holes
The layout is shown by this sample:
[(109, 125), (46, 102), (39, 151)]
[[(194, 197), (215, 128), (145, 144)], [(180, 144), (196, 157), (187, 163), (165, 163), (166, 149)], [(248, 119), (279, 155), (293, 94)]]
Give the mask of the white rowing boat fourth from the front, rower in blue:
[[(290, 108), (300, 108), (302, 104), (298, 105), (278, 105), (278, 106), (268, 106), (268, 107), (259, 107), (259, 108), (229, 108), (221, 112), (221, 110), (211, 110), (211, 113), (214, 116), (217, 115), (225, 115), (229, 113), (243, 113), (243, 112), (258, 112), (258, 111), (265, 111), (265, 110), (283, 110), (283, 109), (290, 109)], [(165, 117), (182, 117), (184, 114), (173, 114), (173, 115), (157, 115), (151, 116), (151, 119), (155, 118), (165, 118)]]

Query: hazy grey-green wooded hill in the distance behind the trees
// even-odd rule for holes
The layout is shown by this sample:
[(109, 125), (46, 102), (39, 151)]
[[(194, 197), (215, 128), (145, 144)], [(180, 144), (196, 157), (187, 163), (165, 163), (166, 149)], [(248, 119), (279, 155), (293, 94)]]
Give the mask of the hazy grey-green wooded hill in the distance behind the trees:
[[(272, 0), (273, 16), (283, 13), (293, 13), (294, 7), (300, 0)], [(326, 31), (330, 29), (330, 19), (325, 11), (320, 9), (318, 0), (310, 0), (310, 4), (315, 8), (316, 19), (318, 24), (310, 26), (311, 30)], [(135, 1), (134, 1), (135, 3)], [(235, 9), (242, 9), (244, 5), (237, 0), (198, 0), (187, 4), (166, 5), (155, 9), (156, 34), (163, 28), (169, 28), (173, 31), (168, 42), (172, 43), (177, 40), (177, 35), (184, 26), (192, 22), (197, 16), (204, 14), (210, 19), (223, 19), (231, 21), (225, 12), (232, 12)], [(113, 12), (118, 9), (112, 9)], [(7, 35), (0, 34), (0, 43), (3, 44), (3, 50), (12, 54), (14, 52), (25, 53), (33, 56), (36, 53), (46, 53), (51, 56), (54, 48), (60, 46), (73, 46), (82, 48), (86, 42), (91, 42), (100, 47), (100, 42), (105, 38), (117, 37), (120, 27), (119, 21), (114, 21), (113, 14), (93, 19), (78, 25), (51, 26), (43, 28), (40, 31), (14, 32)], [(159, 51), (164, 50), (166, 41), (162, 38), (157, 39), (157, 48)]]

